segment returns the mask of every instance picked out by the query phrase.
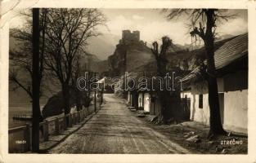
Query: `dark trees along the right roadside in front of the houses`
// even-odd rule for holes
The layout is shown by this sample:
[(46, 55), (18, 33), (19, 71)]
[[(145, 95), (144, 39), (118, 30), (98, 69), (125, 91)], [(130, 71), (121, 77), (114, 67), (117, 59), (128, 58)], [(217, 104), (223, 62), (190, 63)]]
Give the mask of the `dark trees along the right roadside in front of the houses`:
[[(204, 42), (205, 59), (207, 64), (201, 63), (200, 72), (204, 79), (208, 81), (209, 90), (209, 110), (210, 110), (210, 130), (209, 137), (215, 134), (226, 134), (226, 131), (222, 128), (220, 107), (218, 101), (218, 85), (216, 68), (214, 63), (214, 38), (216, 37), (216, 29), (218, 28), (218, 22), (222, 20), (228, 20), (235, 15), (230, 15), (227, 10), (218, 9), (164, 9), (164, 12), (168, 13), (167, 19), (177, 19), (182, 15), (188, 16), (190, 20), (190, 34), (191, 37), (200, 37)], [(168, 48), (172, 46), (172, 40), (169, 37), (162, 38), (162, 45), (159, 50), (159, 43), (153, 42), (152, 52), (155, 55), (157, 62), (157, 69), (160, 77), (164, 77), (166, 74), (167, 55)], [(166, 121), (167, 118), (173, 118), (178, 120), (177, 112), (181, 112), (180, 106), (177, 104), (180, 97), (175, 92), (170, 94), (168, 91), (158, 91), (160, 98), (161, 110), (159, 113), (159, 121)], [(178, 96), (177, 96), (178, 95)], [(170, 101), (169, 99), (174, 99)], [(166, 114), (168, 112), (169, 114)]]

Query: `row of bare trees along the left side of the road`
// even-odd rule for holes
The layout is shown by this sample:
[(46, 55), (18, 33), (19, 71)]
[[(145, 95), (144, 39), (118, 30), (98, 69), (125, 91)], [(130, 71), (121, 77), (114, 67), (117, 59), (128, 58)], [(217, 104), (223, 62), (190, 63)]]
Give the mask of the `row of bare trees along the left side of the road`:
[[(11, 33), (20, 42), (20, 48), (10, 52), (14, 66), (9, 77), (16, 88), (22, 88), (31, 97), (33, 120), (38, 124), (38, 120), (42, 121), (39, 98), (55, 80), (61, 87), (64, 112), (70, 113), (70, 91), (76, 91), (76, 79), (86, 68), (80, 59), (87, 54), (88, 38), (99, 34), (97, 27), (104, 25), (106, 18), (97, 9), (33, 9), (33, 16), (31, 12), (25, 15), (25, 28)], [(75, 99), (79, 98), (80, 104), (83, 95), (76, 92)], [(38, 125), (33, 128), (33, 135), (38, 135)], [(38, 152), (38, 136), (32, 144), (33, 151)]]

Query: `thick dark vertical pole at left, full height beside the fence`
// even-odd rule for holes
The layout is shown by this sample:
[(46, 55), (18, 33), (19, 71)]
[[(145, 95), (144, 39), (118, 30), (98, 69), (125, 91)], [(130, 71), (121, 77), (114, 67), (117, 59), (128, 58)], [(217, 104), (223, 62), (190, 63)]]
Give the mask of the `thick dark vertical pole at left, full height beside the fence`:
[(33, 8), (33, 33), (32, 33), (32, 152), (39, 151), (39, 9)]

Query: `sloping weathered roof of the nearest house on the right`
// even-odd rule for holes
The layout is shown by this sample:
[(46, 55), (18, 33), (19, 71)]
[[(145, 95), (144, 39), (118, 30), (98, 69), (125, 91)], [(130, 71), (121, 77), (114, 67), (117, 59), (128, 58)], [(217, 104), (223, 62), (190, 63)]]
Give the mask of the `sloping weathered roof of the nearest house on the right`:
[[(236, 59), (240, 59), (248, 55), (248, 33), (234, 37), (230, 41), (224, 43), (217, 51), (214, 52), (216, 70), (224, 68)], [(195, 68), (191, 73), (183, 77), (183, 81), (190, 80), (200, 73), (199, 68)]]

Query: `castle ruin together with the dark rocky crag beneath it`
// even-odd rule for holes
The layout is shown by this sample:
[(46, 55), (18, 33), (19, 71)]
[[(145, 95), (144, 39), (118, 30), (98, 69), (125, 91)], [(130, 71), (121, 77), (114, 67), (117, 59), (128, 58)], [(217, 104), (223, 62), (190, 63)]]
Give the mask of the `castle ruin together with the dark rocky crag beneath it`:
[(140, 31), (123, 30), (122, 38), (113, 55), (108, 57), (109, 72), (112, 77), (132, 72), (155, 58), (146, 42), (140, 39)]

